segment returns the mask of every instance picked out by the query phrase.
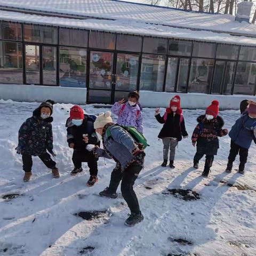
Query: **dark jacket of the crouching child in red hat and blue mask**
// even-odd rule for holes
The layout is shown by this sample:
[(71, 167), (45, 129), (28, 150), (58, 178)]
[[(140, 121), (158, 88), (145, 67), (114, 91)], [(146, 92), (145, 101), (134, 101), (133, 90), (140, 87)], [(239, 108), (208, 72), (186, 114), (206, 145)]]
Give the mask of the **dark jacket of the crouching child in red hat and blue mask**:
[[(68, 146), (70, 146), (70, 143), (74, 143), (74, 150), (89, 153), (89, 151), (85, 149), (88, 144), (100, 145), (100, 141), (93, 127), (94, 120), (95, 118), (93, 118), (93, 116), (85, 114), (83, 123), (76, 126), (69, 117), (66, 122)], [(88, 143), (84, 142), (83, 134), (88, 134)]]

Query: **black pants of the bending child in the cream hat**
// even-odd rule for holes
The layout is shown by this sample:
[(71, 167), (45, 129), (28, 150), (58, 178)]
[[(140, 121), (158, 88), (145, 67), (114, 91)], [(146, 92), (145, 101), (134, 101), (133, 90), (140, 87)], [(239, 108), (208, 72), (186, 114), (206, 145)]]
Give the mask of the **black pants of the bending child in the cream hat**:
[(133, 190), (133, 185), (135, 180), (138, 178), (138, 175), (142, 169), (142, 165), (137, 162), (129, 165), (123, 172), (121, 168), (115, 168), (111, 173), (111, 180), (109, 183), (109, 191), (116, 192), (117, 187), (122, 180), (121, 183), (121, 192), (122, 196), (125, 199), (128, 207), (131, 210), (131, 213), (140, 213), (140, 206), (138, 202), (138, 198)]

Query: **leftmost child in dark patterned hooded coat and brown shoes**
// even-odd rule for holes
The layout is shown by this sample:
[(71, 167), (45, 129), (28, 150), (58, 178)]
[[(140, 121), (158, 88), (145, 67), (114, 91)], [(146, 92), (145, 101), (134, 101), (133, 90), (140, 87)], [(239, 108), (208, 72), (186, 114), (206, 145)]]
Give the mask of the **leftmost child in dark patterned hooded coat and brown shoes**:
[(59, 178), (59, 170), (51, 156), (53, 152), (52, 124), (54, 101), (47, 100), (33, 111), (33, 116), (28, 118), (20, 127), (19, 144), (15, 148), (17, 154), (22, 155), (23, 170), (25, 175), (23, 181), (29, 181), (31, 178), (31, 168), (33, 165), (32, 156), (38, 156), (43, 163), (52, 169), (53, 178)]

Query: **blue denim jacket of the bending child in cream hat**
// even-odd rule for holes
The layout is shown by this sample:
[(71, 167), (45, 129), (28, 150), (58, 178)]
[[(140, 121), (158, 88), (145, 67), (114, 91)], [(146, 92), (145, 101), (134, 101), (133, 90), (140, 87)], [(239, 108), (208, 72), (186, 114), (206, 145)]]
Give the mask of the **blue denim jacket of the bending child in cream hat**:
[(120, 165), (121, 170), (124, 171), (134, 160), (132, 154), (135, 148), (134, 140), (128, 132), (118, 125), (111, 126), (110, 133), (111, 137), (109, 138), (106, 133), (103, 134), (102, 140), (105, 149), (97, 148), (96, 154), (106, 158), (113, 156), (117, 165)]

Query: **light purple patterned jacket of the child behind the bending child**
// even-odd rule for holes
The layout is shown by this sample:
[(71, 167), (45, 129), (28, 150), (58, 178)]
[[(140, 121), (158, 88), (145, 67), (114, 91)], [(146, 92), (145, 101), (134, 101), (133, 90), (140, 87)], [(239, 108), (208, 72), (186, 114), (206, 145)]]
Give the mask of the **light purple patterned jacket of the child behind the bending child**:
[(134, 107), (132, 107), (128, 102), (126, 102), (125, 109), (123, 113), (120, 114), (122, 106), (123, 104), (116, 102), (111, 107), (111, 112), (118, 116), (117, 124), (123, 126), (135, 126), (139, 132), (143, 133), (143, 116), (141, 114), (140, 105), (136, 104)]

